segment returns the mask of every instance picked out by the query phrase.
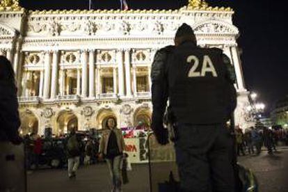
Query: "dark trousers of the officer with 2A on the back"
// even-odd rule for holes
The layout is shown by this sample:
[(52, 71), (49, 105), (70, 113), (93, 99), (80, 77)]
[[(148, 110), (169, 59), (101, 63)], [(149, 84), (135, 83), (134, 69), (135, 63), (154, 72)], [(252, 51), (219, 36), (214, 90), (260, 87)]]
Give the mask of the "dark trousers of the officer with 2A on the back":
[(182, 191), (234, 191), (232, 136), (225, 125), (179, 124), (175, 150)]

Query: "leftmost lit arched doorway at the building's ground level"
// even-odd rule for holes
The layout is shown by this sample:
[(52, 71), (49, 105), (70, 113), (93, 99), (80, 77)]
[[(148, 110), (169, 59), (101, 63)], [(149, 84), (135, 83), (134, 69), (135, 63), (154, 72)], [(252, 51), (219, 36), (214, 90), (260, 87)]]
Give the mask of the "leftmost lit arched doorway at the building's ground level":
[(38, 127), (38, 119), (31, 111), (21, 115), (21, 128), (19, 129), (21, 135), (38, 134)]

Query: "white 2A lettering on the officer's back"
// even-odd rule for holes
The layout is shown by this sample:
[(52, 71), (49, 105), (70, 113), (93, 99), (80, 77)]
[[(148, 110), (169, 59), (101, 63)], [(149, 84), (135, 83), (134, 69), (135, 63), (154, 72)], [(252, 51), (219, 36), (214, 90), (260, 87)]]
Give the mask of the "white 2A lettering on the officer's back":
[(215, 67), (209, 56), (204, 56), (201, 72), (195, 71), (197, 70), (197, 67), (199, 65), (199, 58), (197, 58), (196, 56), (187, 57), (187, 63), (192, 63), (192, 67), (189, 70), (188, 77), (205, 77), (207, 72), (211, 72), (213, 77), (218, 77)]

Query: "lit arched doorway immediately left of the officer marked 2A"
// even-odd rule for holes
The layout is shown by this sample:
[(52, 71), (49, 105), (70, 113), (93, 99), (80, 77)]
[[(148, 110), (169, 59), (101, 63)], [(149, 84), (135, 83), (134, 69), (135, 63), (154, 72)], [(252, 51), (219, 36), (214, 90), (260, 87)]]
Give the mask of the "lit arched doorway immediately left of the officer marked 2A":
[(149, 109), (138, 109), (134, 115), (134, 127), (136, 129), (150, 129), (151, 112)]

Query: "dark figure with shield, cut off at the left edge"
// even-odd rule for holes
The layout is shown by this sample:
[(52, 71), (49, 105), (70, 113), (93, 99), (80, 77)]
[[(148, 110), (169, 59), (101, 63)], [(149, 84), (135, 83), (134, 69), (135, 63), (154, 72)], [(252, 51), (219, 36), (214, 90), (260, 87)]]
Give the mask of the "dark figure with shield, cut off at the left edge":
[(0, 56), (0, 191), (25, 191), (24, 147), (13, 67)]

